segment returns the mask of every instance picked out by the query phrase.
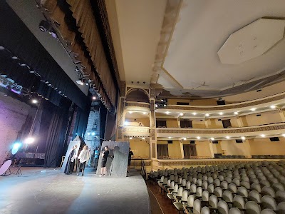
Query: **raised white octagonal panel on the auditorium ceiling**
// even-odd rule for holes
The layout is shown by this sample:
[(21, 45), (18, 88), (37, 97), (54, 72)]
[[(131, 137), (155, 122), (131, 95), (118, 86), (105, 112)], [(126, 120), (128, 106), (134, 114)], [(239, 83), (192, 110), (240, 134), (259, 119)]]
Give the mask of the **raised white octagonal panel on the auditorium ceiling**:
[(285, 20), (259, 19), (234, 32), (218, 51), (225, 64), (239, 64), (271, 49), (284, 36)]

